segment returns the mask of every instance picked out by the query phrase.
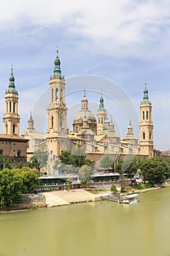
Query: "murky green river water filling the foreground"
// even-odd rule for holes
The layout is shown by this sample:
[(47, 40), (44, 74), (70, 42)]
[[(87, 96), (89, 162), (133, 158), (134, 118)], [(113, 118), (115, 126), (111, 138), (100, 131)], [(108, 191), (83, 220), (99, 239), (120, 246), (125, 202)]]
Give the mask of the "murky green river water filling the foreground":
[(0, 215), (0, 256), (170, 256), (170, 187), (112, 201)]

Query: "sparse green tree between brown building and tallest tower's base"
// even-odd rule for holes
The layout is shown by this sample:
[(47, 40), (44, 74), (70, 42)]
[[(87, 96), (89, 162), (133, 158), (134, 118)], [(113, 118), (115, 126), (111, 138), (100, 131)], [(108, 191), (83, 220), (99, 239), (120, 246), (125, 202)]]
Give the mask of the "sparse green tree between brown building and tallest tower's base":
[(38, 148), (36, 149), (36, 151), (34, 151), (34, 157), (36, 158), (40, 169), (42, 169), (47, 165), (48, 156), (49, 156), (49, 153), (45, 149), (45, 147)]

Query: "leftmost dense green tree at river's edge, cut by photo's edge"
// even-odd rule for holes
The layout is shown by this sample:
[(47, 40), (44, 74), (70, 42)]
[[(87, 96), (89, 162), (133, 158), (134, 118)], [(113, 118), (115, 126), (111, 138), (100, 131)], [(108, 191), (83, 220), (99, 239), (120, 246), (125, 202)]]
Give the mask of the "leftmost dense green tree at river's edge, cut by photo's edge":
[(23, 179), (14, 169), (0, 172), (0, 208), (21, 202)]

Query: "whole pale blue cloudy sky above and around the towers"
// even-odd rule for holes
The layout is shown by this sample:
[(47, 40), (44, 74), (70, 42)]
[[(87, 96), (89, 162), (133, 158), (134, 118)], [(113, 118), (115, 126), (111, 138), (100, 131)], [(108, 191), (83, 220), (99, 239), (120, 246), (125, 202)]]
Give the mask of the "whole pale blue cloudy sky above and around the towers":
[[(139, 137), (137, 118), (147, 81), (154, 147), (170, 148), (169, 0), (1, 0), (0, 42), (1, 132), (11, 65), (20, 98), (20, 135), (31, 110), (39, 108), (47, 121), (49, 79), (58, 46), (70, 129), (85, 87), (94, 112), (102, 90), (108, 116), (113, 116), (121, 138), (129, 119)], [(127, 110), (132, 105), (134, 110)], [(36, 130), (45, 132), (45, 124), (39, 127), (35, 117)]]

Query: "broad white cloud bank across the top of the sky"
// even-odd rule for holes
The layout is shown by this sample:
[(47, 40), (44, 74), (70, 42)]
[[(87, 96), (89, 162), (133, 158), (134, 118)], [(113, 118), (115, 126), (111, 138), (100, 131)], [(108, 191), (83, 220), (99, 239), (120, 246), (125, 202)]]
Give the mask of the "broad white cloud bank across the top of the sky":
[(164, 54), (168, 48), (169, 10), (170, 2), (166, 0), (8, 0), (1, 5), (0, 21), (1, 30), (17, 31), (29, 24), (60, 26), (69, 36), (86, 40), (79, 42), (80, 47), (147, 58), (153, 53)]

